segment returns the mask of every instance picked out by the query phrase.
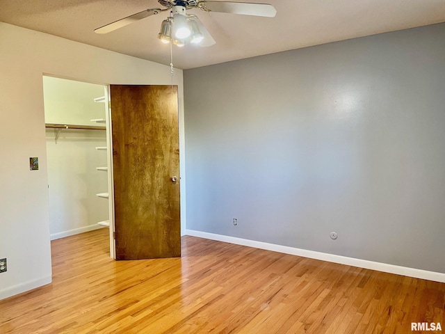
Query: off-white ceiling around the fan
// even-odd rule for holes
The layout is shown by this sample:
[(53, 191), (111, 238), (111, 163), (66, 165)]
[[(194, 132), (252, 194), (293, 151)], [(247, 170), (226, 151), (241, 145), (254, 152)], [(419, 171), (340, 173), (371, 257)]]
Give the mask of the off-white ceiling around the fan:
[[(216, 45), (173, 47), (175, 67), (200, 67), (445, 22), (445, 0), (262, 1), (275, 6), (276, 17), (188, 11), (201, 19)], [(93, 32), (152, 7), (160, 5), (156, 0), (0, 0), (0, 21), (168, 65), (170, 47), (157, 39), (168, 11), (106, 35)]]

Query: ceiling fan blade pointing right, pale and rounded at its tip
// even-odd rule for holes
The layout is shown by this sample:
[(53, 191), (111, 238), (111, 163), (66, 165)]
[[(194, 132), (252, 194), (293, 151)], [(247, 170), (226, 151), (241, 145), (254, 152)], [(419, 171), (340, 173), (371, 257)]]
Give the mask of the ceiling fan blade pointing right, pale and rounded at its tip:
[(230, 1), (200, 1), (198, 6), (211, 12), (232, 13), (241, 15), (254, 15), (275, 17), (277, 10), (268, 3), (248, 3)]

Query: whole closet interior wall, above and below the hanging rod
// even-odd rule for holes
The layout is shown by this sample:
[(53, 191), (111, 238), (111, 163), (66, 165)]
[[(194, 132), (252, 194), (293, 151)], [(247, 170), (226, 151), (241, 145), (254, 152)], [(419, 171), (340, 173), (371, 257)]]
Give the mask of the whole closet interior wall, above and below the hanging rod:
[(43, 84), (51, 239), (103, 228), (98, 223), (108, 220), (108, 200), (97, 193), (108, 192), (106, 131), (70, 125), (105, 127), (91, 120), (106, 117), (106, 105), (94, 101), (106, 88), (47, 76)]

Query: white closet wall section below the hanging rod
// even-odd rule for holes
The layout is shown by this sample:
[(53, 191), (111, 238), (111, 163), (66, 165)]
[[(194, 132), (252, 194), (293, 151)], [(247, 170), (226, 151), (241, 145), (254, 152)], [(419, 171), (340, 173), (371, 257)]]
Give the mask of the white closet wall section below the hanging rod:
[(52, 239), (100, 228), (108, 220), (108, 200), (96, 193), (108, 191), (106, 134), (97, 130), (68, 129), (60, 132), (57, 143), (54, 129), (47, 129), (49, 184), (49, 232)]

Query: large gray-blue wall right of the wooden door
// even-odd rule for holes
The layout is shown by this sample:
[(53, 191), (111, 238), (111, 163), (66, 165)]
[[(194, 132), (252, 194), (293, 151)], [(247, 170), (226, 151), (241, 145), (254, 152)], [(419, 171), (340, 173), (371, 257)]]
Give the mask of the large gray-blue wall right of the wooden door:
[(189, 230), (445, 273), (445, 24), (185, 70), (184, 95)]

